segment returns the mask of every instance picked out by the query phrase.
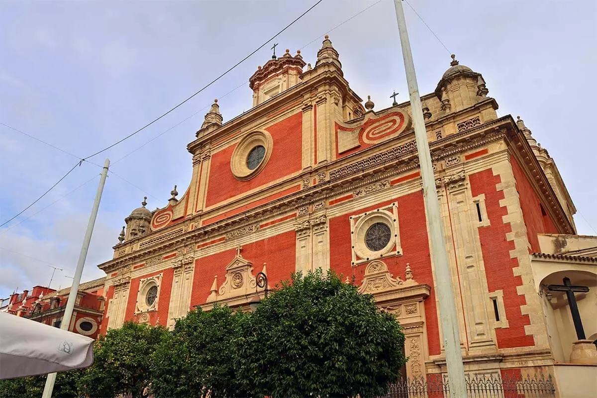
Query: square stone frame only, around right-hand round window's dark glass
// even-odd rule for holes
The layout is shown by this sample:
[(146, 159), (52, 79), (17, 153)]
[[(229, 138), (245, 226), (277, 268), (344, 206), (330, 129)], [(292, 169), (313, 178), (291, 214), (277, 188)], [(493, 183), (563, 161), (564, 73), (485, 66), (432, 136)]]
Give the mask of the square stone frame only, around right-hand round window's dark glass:
[[(351, 266), (355, 267), (371, 260), (402, 255), (400, 228), (398, 223), (398, 207), (396, 206), (396, 203), (391, 203), (388, 206), (383, 206), (361, 214), (351, 215), (349, 220), (352, 252)], [(393, 236), (383, 249), (372, 251), (367, 247), (367, 243), (365, 243), (365, 234), (369, 227), (380, 222), (390, 227), (390, 232)]]

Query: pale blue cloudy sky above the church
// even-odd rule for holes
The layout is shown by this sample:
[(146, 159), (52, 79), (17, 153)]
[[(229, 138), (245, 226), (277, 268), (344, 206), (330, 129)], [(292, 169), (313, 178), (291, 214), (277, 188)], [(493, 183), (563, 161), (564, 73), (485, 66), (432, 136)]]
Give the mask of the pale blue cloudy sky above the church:
[[(0, 0), (0, 223), (38, 198), (78, 158), (179, 104), (315, 2)], [(597, 134), (591, 117), (597, 92), (595, 2), (403, 4), (421, 94), (435, 89), (451, 53), (481, 72), (499, 115), (520, 115), (555, 159), (577, 208), (578, 233), (597, 235)], [(51, 287), (70, 286), (99, 165), (109, 158), (82, 280), (103, 276), (97, 264), (112, 258), (124, 218), (143, 196), (147, 208), (155, 209), (167, 204), (174, 184), (186, 190), (192, 172), (186, 145), (213, 99), (219, 98), (224, 122), (249, 110), (248, 79), (269, 60), (272, 44), (279, 44), (278, 55), (300, 49), (314, 65), (326, 33), (357, 94), (371, 95), (376, 109), (390, 106), (394, 90), (398, 102), (408, 101), (393, 1), (323, 0), (232, 72), (139, 134), (88, 159), (96, 164), (77, 166), (1, 227), (0, 298), (47, 286), (53, 267), (61, 270), (54, 272)]]

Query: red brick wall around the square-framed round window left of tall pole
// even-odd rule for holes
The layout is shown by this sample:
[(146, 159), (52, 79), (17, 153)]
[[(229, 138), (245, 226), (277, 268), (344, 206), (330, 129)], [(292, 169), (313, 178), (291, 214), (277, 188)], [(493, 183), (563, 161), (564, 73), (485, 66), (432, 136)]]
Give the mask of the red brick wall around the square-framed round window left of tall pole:
[(398, 222), (400, 226), (400, 243), (403, 255), (398, 257), (383, 258), (390, 273), (404, 280), (404, 271), (407, 263), (413, 271), (413, 277), (418, 283), (426, 283), (432, 287), (429, 297), (425, 300), (425, 317), (427, 323), (427, 339), (429, 354), (440, 353), (438, 316), (433, 291), (433, 274), (427, 240), (427, 223), (423, 205), (423, 193), (410, 193), (394, 200), (378, 203), (367, 208), (354, 209), (347, 214), (331, 218), (330, 220), (330, 268), (344, 276), (355, 276), (355, 283), (361, 284), (365, 267), (368, 263), (356, 267), (350, 265), (350, 220), (352, 214), (361, 214), (365, 211), (379, 208), (396, 202), (398, 206)]

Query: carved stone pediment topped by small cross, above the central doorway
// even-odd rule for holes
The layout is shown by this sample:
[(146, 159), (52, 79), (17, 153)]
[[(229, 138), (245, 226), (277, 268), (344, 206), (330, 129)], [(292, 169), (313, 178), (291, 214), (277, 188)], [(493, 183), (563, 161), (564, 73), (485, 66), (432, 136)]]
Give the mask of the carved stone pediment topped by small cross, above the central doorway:
[(217, 285), (217, 276), (214, 278), (207, 303), (254, 294), (256, 286), (256, 278), (253, 275), (253, 263), (240, 254), (237, 254), (234, 260), (226, 266), (226, 280), (219, 288)]

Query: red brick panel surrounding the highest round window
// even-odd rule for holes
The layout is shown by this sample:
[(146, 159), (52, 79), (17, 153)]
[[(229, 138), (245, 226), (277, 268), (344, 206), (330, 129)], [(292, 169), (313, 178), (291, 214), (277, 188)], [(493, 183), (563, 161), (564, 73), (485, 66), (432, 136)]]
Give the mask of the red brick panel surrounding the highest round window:
[[(230, 158), (236, 144), (211, 156), (205, 206), (213, 206), (223, 200), (248, 190), (268, 184), (302, 168), (303, 114), (296, 113), (266, 130), (272, 135), (272, 155), (263, 170), (248, 181), (236, 180), (230, 169)], [(222, 189), (226, 187), (226, 189)]]

